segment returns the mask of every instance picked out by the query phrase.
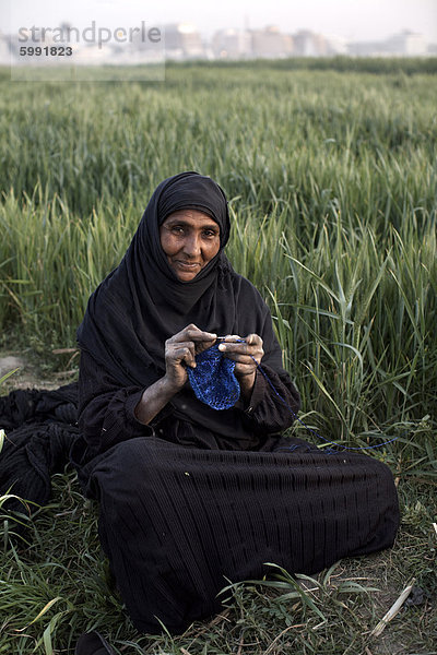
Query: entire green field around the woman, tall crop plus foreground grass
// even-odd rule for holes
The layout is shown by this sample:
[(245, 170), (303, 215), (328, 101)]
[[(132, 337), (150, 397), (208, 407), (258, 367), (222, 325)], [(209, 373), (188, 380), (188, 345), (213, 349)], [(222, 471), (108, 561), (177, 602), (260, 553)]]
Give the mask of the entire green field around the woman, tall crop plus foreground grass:
[(10, 541), (0, 497), (0, 654), (72, 655), (91, 629), (126, 655), (437, 654), (436, 82), (437, 59), (169, 63), (144, 83), (0, 71), (1, 352), (56, 371), (51, 350), (74, 347), (156, 184), (210, 175), (229, 199), (227, 254), (269, 303), (303, 397), (312, 432), (293, 432), (383, 443), (366, 452), (402, 509), (391, 551), (311, 579), (224, 580), (217, 617), (139, 635), (68, 468), (32, 522), (23, 504), (27, 541)]

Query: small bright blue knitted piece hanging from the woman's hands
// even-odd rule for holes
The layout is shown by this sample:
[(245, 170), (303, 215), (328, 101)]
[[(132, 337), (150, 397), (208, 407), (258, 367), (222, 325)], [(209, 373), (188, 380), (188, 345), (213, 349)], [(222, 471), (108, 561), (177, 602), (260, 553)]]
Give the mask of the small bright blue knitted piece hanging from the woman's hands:
[(239, 384), (234, 374), (235, 361), (224, 357), (215, 344), (196, 356), (197, 367), (187, 367), (196, 397), (213, 409), (228, 409), (239, 398)]

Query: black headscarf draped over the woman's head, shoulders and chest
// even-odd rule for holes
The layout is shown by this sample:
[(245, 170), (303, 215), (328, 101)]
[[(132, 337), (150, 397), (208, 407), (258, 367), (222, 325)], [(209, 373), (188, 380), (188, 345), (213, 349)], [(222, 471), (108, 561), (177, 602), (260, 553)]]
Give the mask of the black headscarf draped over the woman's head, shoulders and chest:
[[(180, 281), (169, 266), (160, 239), (162, 223), (181, 209), (199, 210), (220, 226), (217, 254), (189, 282)], [(78, 330), (81, 348), (121, 385), (149, 386), (160, 379), (165, 373), (165, 341), (189, 323), (218, 335), (260, 334), (265, 357), (274, 349), (281, 365), (264, 302), (223, 252), (229, 227), (225, 194), (211, 178), (181, 172), (156, 188), (122, 261), (91, 296)], [(268, 335), (262, 334), (265, 322)], [(203, 424), (209, 422), (205, 414), (216, 415), (191, 390), (177, 394), (173, 404)]]

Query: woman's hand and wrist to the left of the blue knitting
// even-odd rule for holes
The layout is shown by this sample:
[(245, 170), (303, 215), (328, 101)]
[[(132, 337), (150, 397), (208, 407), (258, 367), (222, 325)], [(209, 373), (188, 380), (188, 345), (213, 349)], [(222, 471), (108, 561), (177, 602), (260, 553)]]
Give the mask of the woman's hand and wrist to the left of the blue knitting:
[(216, 334), (203, 332), (190, 323), (165, 342), (165, 376), (167, 385), (177, 393), (187, 382), (187, 366), (196, 368), (196, 355), (210, 348)]

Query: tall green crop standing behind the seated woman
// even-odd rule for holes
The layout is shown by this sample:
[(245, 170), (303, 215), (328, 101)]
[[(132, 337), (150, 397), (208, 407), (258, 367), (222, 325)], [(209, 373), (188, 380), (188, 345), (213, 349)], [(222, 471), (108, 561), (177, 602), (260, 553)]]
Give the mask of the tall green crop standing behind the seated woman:
[(155, 186), (199, 170), (227, 193), (228, 257), (272, 309), (307, 422), (363, 444), (417, 425), (428, 439), (437, 94), (432, 74), (387, 67), (191, 64), (168, 66), (162, 83), (0, 81), (1, 330), (73, 345), (90, 293), (120, 261)]

